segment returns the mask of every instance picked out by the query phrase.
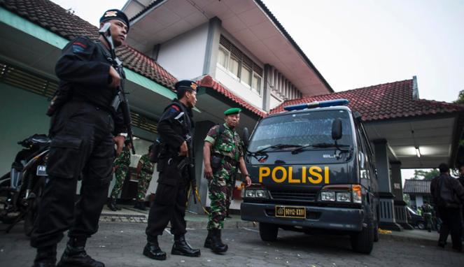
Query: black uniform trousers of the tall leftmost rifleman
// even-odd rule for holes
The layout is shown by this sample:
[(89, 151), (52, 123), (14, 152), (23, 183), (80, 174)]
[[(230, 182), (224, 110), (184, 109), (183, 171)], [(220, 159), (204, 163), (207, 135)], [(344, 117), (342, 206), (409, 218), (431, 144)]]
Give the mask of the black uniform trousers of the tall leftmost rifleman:
[[(31, 236), (32, 247), (59, 243), (63, 231), (87, 238), (98, 230), (112, 178), (114, 122), (111, 113), (70, 101), (52, 118), (48, 179)], [(82, 178), (76, 202), (78, 178)]]

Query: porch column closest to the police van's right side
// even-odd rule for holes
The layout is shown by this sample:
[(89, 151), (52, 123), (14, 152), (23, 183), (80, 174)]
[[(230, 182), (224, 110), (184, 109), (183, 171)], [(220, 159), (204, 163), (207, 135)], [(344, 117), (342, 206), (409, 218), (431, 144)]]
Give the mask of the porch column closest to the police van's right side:
[(392, 194), (388, 147), (385, 139), (374, 140), (375, 164), (379, 178), (379, 226), (382, 229), (402, 231), (395, 220), (395, 196)]

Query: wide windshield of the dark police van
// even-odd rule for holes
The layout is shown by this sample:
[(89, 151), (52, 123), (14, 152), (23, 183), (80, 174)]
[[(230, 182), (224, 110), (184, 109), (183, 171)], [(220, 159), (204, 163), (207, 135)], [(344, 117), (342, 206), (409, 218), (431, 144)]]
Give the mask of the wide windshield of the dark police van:
[[(250, 141), (250, 152), (289, 150), (312, 144), (335, 143), (332, 140), (332, 122), (342, 120), (343, 136), (339, 145), (351, 145), (351, 123), (346, 110), (321, 110), (308, 113), (290, 113), (265, 118), (258, 124)], [(266, 149), (269, 147), (269, 150)], [(321, 147), (313, 147), (321, 149)]]

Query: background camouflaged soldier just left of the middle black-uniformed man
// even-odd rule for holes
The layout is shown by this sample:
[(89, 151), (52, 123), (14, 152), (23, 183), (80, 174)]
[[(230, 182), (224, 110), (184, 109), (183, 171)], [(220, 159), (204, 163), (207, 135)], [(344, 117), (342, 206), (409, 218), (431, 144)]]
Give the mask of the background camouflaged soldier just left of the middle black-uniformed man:
[(153, 171), (155, 170), (155, 164), (150, 162), (150, 153), (152, 149), (153, 145), (150, 145), (150, 147), (148, 147), (148, 154), (144, 154), (139, 159), (139, 164), (137, 164), (137, 176), (139, 177), (139, 185), (137, 186), (137, 201), (134, 205), (134, 208), (138, 208), (139, 210), (146, 210), (146, 190), (148, 189), (148, 185), (150, 185)]

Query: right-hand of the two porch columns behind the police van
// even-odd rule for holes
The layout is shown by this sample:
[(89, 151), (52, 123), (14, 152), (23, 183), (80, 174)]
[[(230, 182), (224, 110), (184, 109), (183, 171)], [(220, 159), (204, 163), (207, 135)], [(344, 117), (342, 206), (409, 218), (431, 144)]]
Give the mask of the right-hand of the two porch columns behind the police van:
[(404, 229), (414, 229), (411, 224), (407, 222), (406, 202), (403, 199), (403, 187), (401, 180), (401, 162), (391, 161), (391, 188), (395, 195), (395, 220)]

